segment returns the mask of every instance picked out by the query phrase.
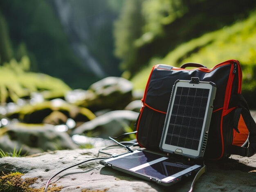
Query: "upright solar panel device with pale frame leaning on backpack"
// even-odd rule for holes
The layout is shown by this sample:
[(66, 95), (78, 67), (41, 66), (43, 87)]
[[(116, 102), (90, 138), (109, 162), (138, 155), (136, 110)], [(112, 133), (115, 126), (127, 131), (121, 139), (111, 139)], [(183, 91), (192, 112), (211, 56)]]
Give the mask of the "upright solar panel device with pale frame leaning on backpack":
[(162, 151), (203, 157), (215, 94), (216, 85), (198, 77), (175, 82), (159, 146)]

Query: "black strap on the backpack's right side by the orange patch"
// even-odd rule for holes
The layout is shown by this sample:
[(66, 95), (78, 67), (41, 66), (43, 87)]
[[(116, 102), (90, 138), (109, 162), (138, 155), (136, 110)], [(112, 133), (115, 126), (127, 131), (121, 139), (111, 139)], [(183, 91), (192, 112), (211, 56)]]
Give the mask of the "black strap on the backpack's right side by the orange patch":
[(245, 126), (249, 131), (248, 147), (231, 145), (229, 154), (238, 154), (243, 157), (251, 157), (256, 153), (256, 123), (248, 110), (247, 102), (242, 95), (238, 95), (238, 108), (234, 111), (233, 127), (239, 133), (239, 121), (243, 118)]

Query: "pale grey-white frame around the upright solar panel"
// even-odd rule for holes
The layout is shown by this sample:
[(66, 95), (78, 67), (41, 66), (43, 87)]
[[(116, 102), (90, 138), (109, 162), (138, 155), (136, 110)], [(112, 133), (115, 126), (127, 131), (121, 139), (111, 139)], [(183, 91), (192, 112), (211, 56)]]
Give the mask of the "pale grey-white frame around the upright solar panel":
[[(200, 82), (199, 84), (193, 84), (193, 83), (189, 83), (189, 82), (190, 81), (180, 80), (179, 82), (175, 83), (175, 85), (173, 86), (173, 92), (172, 92), (170, 103), (169, 103), (169, 106), (168, 106), (168, 113), (166, 115), (166, 120), (165, 120), (165, 124), (164, 124), (164, 131), (163, 131), (163, 135), (162, 135), (162, 141), (160, 143), (160, 148), (165, 152), (174, 152), (174, 153), (177, 153), (177, 154), (182, 154), (182, 155), (187, 156), (187, 157), (195, 157), (196, 158), (196, 157), (199, 157), (200, 153), (201, 153), (200, 146), (202, 146), (205, 129), (207, 129), (207, 130), (209, 129), (209, 127), (206, 128), (205, 125), (207, 123), (207, 120), (209, 120), (209, 119), (207, 119), (207, 117), (209, 117), (208, 114), (209, 114), (209, 107), (210, 107), (210, 101), (211, 101), (213, 86), (209, 82)], [(182, 148), (182, 147), (178, 147), (178, 146), (165, 144), (166, 134), (167, 134), (167, 131), (168, 131), (168, 124), (170, 122), (171, 112), (173, 110), (174, 95), (176, 95), (178, 87), (209, 89), (209, 97), (208, 97), (208, 100), (207, 100), (207, 108), (206, 108), (205, 114), (204, 114), (204, 122), (203, 122), (203, 126), (202, 126), (202, 132), (201, 132), (201, 136), (200, 136), (198, 150), (193, 150), (193, 149)]]

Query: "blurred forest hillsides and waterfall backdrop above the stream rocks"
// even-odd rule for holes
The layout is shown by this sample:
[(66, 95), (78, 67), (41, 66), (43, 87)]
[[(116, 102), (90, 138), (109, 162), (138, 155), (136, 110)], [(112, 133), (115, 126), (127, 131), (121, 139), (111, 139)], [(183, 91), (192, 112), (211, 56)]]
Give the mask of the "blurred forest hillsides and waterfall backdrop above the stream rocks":
[[(211, 68), (236, 59), (256, 108), (255, 8), (253, 0), (1, 0), (1, 103), (28, 89), (87, 89), (108, 76), (143, 90), (155, 64)], [(36, 83), (35, 73), (66, 85), (47, 75)]]

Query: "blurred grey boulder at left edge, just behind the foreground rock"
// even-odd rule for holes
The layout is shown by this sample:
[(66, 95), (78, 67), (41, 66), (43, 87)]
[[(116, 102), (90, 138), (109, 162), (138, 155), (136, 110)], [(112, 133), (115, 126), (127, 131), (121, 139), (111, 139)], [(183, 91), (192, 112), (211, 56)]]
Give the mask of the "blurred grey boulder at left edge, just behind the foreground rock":
[(57, 132), (53, 125), (11, 124), (0, 129), (0, 149), (21, 154), (35, 154), (47, 150), (75, 149), (78, 146), (66, 132)]

